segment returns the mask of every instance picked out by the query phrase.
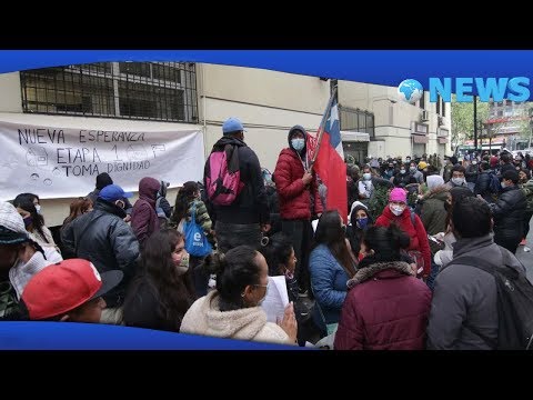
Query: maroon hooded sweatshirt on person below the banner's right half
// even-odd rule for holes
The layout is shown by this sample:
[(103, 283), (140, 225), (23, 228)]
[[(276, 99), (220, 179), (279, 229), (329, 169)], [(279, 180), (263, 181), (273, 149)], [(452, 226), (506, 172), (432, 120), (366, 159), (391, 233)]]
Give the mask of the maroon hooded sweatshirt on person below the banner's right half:
[(142, 178), (139, 182), (139, 200), (135, 201), (131, 213), (131, 228), (141, 247), (153, 232), (159, 230), (155, 199), (160, 188), (160, 181), (153, 178)]

